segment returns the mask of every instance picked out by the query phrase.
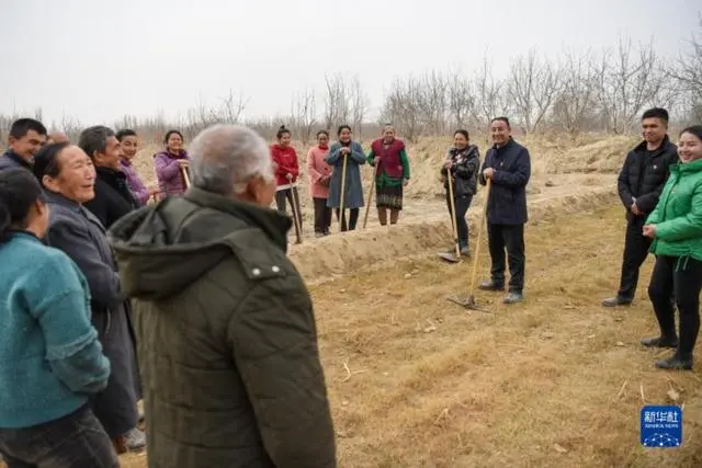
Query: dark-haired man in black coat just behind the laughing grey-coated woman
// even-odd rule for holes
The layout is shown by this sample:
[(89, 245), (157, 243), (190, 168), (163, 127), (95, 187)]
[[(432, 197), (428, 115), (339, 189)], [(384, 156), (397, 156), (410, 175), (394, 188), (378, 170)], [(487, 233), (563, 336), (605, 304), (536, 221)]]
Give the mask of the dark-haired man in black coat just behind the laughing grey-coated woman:
[(78, 146), (90, 157), (98, 175), (95, 197), (83, 206), (110, 229), (114, 221), (138, 207), (126, 174), (120, 169), (120, 141), (111, 128), (97, 125), (80, 134)]

